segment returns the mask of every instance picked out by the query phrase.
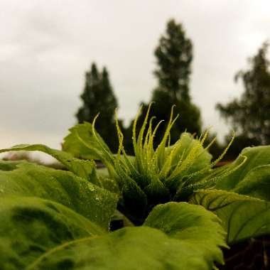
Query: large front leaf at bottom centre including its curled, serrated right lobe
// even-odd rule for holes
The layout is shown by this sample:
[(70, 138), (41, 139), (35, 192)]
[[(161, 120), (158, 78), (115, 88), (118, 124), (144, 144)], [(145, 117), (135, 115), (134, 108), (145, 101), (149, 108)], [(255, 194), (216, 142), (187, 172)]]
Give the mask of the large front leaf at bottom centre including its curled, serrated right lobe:
[[(26, 270), (211, 270), (214, 261), (222, 263), (224, 231), (211, 212), (173, 202), (156, 208), (152, 214), (146, 222), (152, 227), (126, 227), (107, 235), (60, 243), (36, 257)], [(184, 214), (186, 220), (169, 222), (178, 214)], [(153, 228), (158, 218), (163, 224), (161, 229)], [(198, 234), (202, 236), (198, 238)]]

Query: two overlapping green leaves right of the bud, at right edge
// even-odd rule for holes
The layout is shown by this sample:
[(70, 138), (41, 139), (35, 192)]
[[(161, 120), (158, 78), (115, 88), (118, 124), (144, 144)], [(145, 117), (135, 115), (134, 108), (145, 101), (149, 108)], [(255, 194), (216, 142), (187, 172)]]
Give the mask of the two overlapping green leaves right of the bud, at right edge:
[(270, 146), (245, 148), (236, 161), (221, 170), (214, 169), (207, 178), (211, 175), (217, 179), (216, 190), (199, 190), (190, 202), (220, 217), (228, 232), (227, 242), (269, 234)]

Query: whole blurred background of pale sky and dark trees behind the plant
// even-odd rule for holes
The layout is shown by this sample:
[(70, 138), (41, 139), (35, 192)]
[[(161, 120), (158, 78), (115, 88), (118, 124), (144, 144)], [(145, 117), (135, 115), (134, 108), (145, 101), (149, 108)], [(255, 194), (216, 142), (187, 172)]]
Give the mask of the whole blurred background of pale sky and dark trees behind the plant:
[(227, 159), (270, 144), (269, 10), (267, 0), (1, 0), (0, 148), (61, 148), (100, 112), (97, 131), (116, 151), (119, 108), (132, 153), (132, 121), (151, 101), (156, 123), (176, 105), (172, 142), (212, 126), (214, 156), (232, 130)]

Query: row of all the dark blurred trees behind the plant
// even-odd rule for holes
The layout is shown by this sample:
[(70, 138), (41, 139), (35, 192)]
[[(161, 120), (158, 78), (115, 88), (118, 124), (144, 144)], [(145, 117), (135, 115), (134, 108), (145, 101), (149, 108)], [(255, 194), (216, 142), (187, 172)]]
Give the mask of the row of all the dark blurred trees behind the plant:
[[(240, 70), (235, 80), (242, 80), (244, 93), (239, 99), (233, 99), (228, 104), (217, 104), (220, 115), (231, 124), (237, 136), (234, 144), (229, 149), (228, 157), (234, 158), (242, 148), (270, 144), (270, 71), (269, 61), (266, 58), (268, 44), (264, 43), (257, 55), (249, 59), (249, 69)], [(151, 93), (151, 100), (141, 102), (141, 117), (137, 121), (138, 130), (141, 126), (146, 110), (151, 102), (151, 116), (155, 116), (153, 124), (159, 121), (168, 121), (171, 107), (175, 105), (175, 113), (180, 114), (180, 119), (175, 122), (171, 130), (171, 143), (179, 139), (180, 133), (188, 131), (200, 136), (202, 133), (202, 120), (200, 109), (192, 102), (190, 97), (190, 75), (193, 60), (193, 43), (185, 34), (181, 23), (173, 19), (168, 21), (166, 32), (163, 33), (154, 50), (156, 69), (156, 87)], [(118, 138), (114, 124), (114, 112), (117, 109), (109, 73), (106, 68), (99, 71), (97, 65), (92, 63), (89, 71), (85, 73), (85, 88), (80, 96), (82, 106), (76, 114), (77, 121), (92, 122), (99, 113), (96, 129), (107, 142), (112, 151), (118, 148)], [(124, 133), (124, 146), (127, 153), (132, 154), (131, 131), (134, 120), (125, 127), (119, 121)], [(161, 123), (156, 133), (156, 146), (161, 138), (166, 125)], [(213, 136), (213, 135), (212, 135)], [(210, 135), (210, 139), (212, 137)], [(226, 136), (228, 141), (230, 136)], [(215, 151), (223, 146), (215, 141), (215, 147), (210, 148), (213, 156)]]

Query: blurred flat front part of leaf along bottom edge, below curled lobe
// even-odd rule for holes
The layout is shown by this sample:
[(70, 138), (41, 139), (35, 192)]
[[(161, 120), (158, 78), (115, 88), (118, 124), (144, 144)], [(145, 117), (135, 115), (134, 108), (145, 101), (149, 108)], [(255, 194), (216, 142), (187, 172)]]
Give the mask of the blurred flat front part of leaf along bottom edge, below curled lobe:
[(211, 270), (195, 244), (168, 237), (158, 229), (126, 227), (107, 237), (63, 244), (26, 270)]

